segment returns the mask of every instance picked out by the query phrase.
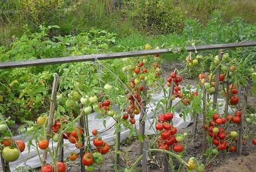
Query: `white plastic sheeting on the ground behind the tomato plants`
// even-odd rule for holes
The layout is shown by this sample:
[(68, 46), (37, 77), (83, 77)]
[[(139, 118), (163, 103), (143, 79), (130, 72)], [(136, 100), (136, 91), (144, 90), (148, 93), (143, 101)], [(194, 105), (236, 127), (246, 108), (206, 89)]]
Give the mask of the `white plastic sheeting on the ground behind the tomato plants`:
[[(145, 133), (149, 134), (149, 135), (155, 134), (155, 132), (153, 130), (154, 126), (150, 128), (150, 122), (151, 123), (154, 122), (153, 121), (154, 119), (151, 119), (153, 117), (153, 112), (151, 112), (151, 110), (154, 110), (155, 109), (154, 104), (156, 104), (158, 101), (160, 101), (160, 99), (163, 98), (163, 92), (161, 92), (160, 94), (151, 94), (151, 96), (152, 96), (151, 102), (147, 105), (147, 107), (149, 107), (149, 109), (148, 109), (148, 113), (147, 113), (147, 121), (146, 121), (146, 127), (145, 127)], [(173, 103), (176, 104), (178, 101), (179, 101), (179, 99), (177, 98), (177, 99), (175, 99), (175, 101)], [(224, 103), (224, 99), (218, 99), (218, 102)], [(222, 113), (224, 111), (224, 107), (220, 108), (219, 111), (220, 111), (220, 113)], [(89, 114), (89, 116), (88, 116), (89, 132), (90, 133), (92, 132), (93, 128), (96, 128), (99, 131), (102, 131), (105, 129), (105, 127), (103, 126), (103, 120), (96, 118), (97, 115), (98, 114), (96, 114), (96, 113), (92, 113), (92, 114)], [(140, 117), (139, 115), (135, 116), (136, 128), (139, 128), (139, 117)], [(174, 126), (177, 127), (177, 129), (185, 128), (191, 123), (189, 115), (186, 117), (186, 121), (184, 121), (182, 118), (180, 118), (178, 116), (177, 113), (175, 113), (173, 121), (174, 121)], [(107, 127), (112, 126), (114, 124), (113, 118), (107, 118), (106, 124), (107, 124)], [(129, 135), (129, 130), (122, 128), (121, 129), (121, 140), (126, 139), (128, 137), (128, 135)], [(114, 139), (115, 139), (114, 127), (112, 127), (110, 130), (102, 133), (100, 136), (102, 137), (102, 139), (104, 141), (108, 142), (108, 144), (113, 145)], [(19, 135), (17, 137), (14, 137), (13, 139), (14, 140), (23, 139), (22, 137), (23, 137), (22, 135)], [(74, 144), (71, 144), (68, 140), (64, 140), (64, 144), (66, 145), (65, 149), (64, 149), (65, 156), (68, 156), (70, 154), (70, 150), (76, 149), (74, 147)], [(27, 145), (27, 142), (26, 142), (26, 145)], [(53, 147), (54, 147), (57, 144), (55, 142), (50, 141), (50, 147), (52, 148), (51, 145), (53, 145)], [(40, 150), (40, 154), (42, 155), (43, 151)], [(30, 153), (28, 152), (27, 147), (26, 147), (24, 152), (22, 153), (22, 156), (20, 156), (17, 161), (10, 163), (11, 171), (15, 171), (15, 169), (17, 167), (24, 166), (25, 165), (24, 162), (27, 164), (27, 166), (30, 166), (31, 168), (37, 168), (37, 167), (41, 166), (39, 157), (36, 154), (36, 149), (34, 147), (31, 147)], [(51, 162), (50, 155), (47, 156), (47, 162)], [(2, 171), (2, 168), (0, 168), (0, 170)]]

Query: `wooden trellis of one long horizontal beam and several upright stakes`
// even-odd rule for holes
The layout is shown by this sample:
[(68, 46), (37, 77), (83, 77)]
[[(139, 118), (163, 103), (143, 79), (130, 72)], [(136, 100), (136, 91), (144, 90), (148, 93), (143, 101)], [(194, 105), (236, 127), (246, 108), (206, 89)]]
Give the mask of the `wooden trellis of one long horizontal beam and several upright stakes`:
[[(110, 60), (110, 59), (120, 59), (120, 58), (132, 58), (132, 57), (139, 57), (139, 56), (146, 56), (146, 55), (154, 55), (154, 54), (166, 54), (166, 53), (172, 53), (172, 52), (199, 52), (199, 51), (206, 51), (206, 50), (213, 50), (213, 49), (219, 49), (219, 56), (220, 58), (222, 57), (222, 50), (223, 49), (230, 49), (230, 48), (237, 48), (237, 47), (251, 47), (251, 46), (256, 46), (256, 41), (246, 41), (246, 42), (239, 42), (239, 43), (233, 43), (233, 44), (216, 44), (216, 45), (204, 45), (204, 46), (189, 46), (189, 47), (185, 47), (185, 48), (166, 48), (166, 49), (152, 49), (152, 50), (147, 50), (147, 51), (136, 51), (136, 52), (120, 52), (120, 53), (109, 53), (109, 54), (92, 54), (92, 55), (81, 55), (81, 56), (68, 56), (68, 57), (61, 57), (61, 58), (49, 58), (49, 59), (37, 59), (37, 60), (26, 60), (26, 61), (13, 61), (13, 62), (2, 62), (0, 63), (0, 69), (9, 69), (9, 68), (22, 68), (22, 67), (32, 67), (32, 66), (42, 66), (42, 65), (49, 65), (49, 64), (61, 64), (61, 63), (74, 63), (74, 62), (86, 62), (86, 61), (96, 61), (96, 60)], [(96, 57), (96, 58), (95, 58)], [(216, 92), (213, 95), (213, 101), (217, 102), (217, 96), (218, 96), (218, 86), (219, 86), (219, 69), (216, 70)], [(57, 85), (56, 85), (57, 84)], [(146, 86), (146, 85), (145, 85)], [(227, 89), (229, 89), (229, 83), (227, 82)], [(53, 119), (54, 116), (54, 109), (55, 109), (55, 98), (56, 98), (56, 94), (57, 94), (57, 90), (56, 88), (58, 87), (58, 76), (54, 77), (54, 83), (53, 83), (53, 91), (52, 91), (52, 97), (51, 97), (51, 110), (50, 110), (50, 119)], [(172, 87), (174, 87), (174, 85), (172, 84)], [(171, 88), (172, 88), (171, 87)], [(172, 95), (173, 92), (173, 88), (170, 90), (170, 94)], [(227, 91), (228, 92), (228, 91)], [(143, 92), (144, 97), (147, 97), (147, 92)], [(228, 93), (227, 93), (228, 94)], [(204, 105), (203, 108), (205, 106), (205, 95), (206, 95), (206, 91), (204, 93)], [(144, 101), (143, 101), (144, 102)], [(171, 102), (168, 103), (171, 106)], [(146, 103), (142, 103), (141, 106), (141, 118), (140, 118), (140, 133), (142, 133), (142, 137), (144, 138), (144, 112), (145, 110), (145, 106)], [(226, 104), (227, 106), (227, 104)], [(226, 111), (225, 114), (227, 115), (227, 108), (226, 107)], [(244, 116), (244, 109), (245, 109), (245, 104), (244, 101), (241, 104), (241, 109), (242, 109), (242, 119)], [(205, 114), (203, 115), (203, 118), (205, 117)], [(83, 118), (82, 118), (83, 119)], [(203, 120), (205, 122), (205, 119)], [(194, 120), (193, 125), (196, 126), (197, 120)], [(80, 121), (80, 124), (82, 125), (83, 122)], [(51, 126), (52, 123), (48, 123), (47, 126), (47, 133), (51, 132)], [(239, 127), (239, 139), (238, 139), (238, 154), (241, 154), (241, 150), (242, 150), (242, 146), (243, 144), (241, 144), (242, 141), (242, 133), (243, 133), (243, 123), (240, 124)], [(193, 132), (195, 132), (196, 127), (193, 127)], [(206, 132), (206, 131), (204, 131)], [(117, 145), (120, 146), (120, 136), (118, 137), (117, 134), (117, 139), (118, 143)], [(206, 140), (206, 133), (204, 133), (204, 140)], [(84, 140), (83, 140), (84, 141)], [(141, 159), (142, 159), (142, 154), (143, 154), (143, 159), (144, 161), (147, 161), (147, 159), (145, 158), (147, 152), (150, 150), (148, 147), (148, 142), (146, 142), (146, 146), (144, 144), (140, 144), (140, 155), (141, 155)], [(143, 149), (144, 147), (144, 149)], [(118, 147), (119, 148), (119, 147)], [(146, 150), (148, 149), (148, 150)], [(153, 149), (152, 149), (153, 151)], [(206, 149), (204, 150), (206, 151)], [(117, 152), (117, 151), (116, 151)], [(163, 151), (164, 152), (164, 151)], [(81, 150), (82, 153), (82, 150)], [(61, 154), (61, 152), (60, 152)], [(171, 154), (168, 154), (168, 156), (172, 156)], [(44, 157), (47, 156), (44, 155)], [(167, 155), (166, 155), (167, 156)], [(167, 157), (168, 157), (167, 156)], [(119, 156), (116, 156), (117, 159), (119, 159)], [(60, 160), (63, 159), (63, 157), (60, 156)], [(119, 160), (116, 160), (116, 162), (119, 162)], [(4, 163), (2, 160), (2, 167), (5, 168)], [(145, 168), (147, 168), (147, 166), (145, 165), (147, 162), (143, 162), (143, 171), (145, 171)], [(82, 165), (81, 165), (82, 167)], [(5, 171), (6, 169), (3, 169), (3, 171)], [(81, 171), (84, 171), (84, 168), (81, 168)], [(169, 159), (166, 158), (165, 159), (165, 163), (164, 163), (164, 172), (169, 171)]]

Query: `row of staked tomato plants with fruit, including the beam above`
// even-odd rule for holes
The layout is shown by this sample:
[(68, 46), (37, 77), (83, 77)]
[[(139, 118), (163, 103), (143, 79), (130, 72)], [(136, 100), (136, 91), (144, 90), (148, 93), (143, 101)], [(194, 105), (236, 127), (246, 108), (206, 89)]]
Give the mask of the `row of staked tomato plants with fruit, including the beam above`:
[[(83, 62), (75, 66), (78, 75), (72, 75), (70, 70), (64, 71), (61, 76), (54, 75), (51, 104), (49, 112), (44, 112), (36, 122), (28, 121), (20, 130), (29, 138), (29, 144), (22, 140), (13, 140), (6, 119), (1, 114), (1, 162), (4, 172), (10, 171), (9, 162), (16, 161), (25, 147), (34, 147), (41, 163), (41, 171), (66, 171), (64, 157), (64, 140), (70, 141), (80, 150), (80, 154), (70, 152), (68, 159), (74, 161), (80, 158), (81, 171), (94, 171), (101, 164), (104, 155), (109, 152), (110, 145), (101, 139), (101, 135), (110, 128), (115, 128), (114, 144), (114, 171), (136, 171), (137, 164), (142, 163), (141, 170), (147, 171), (147, 157), (154, 152), (164, 155), (164, 172), (167, 171), (205, 171), (205, 167), (215, 159), (220, 152), (224, 154), (236, 153), (241, 155), (246, 140), (256, 145), (255, 133), (256, 115), (246, 109), (246, 96), (256, 88), (256, 68), (247, 68), (246, 60), (237, 62), (232, 53), (237, 47), (256, 46), (255, 41), (236, 44), (191, 46), (184, 48), (152, 49), (145, 46), (145, 51), (123, 52), (113, 54), (84, 55), (66, 58), (40, 59), (30, 61), (16, 61), (0, 63), (0, 69), (31, 67), (46, 64)], [(199, 53), (219, 49), (217, 55)], [(223, 52), (223, 49), (227, 49)], [(242, 48), (243, 49), (243, 48)], [(160, 54), (188, 52), (186, 67), (182, 70), (171, 71), (168, 78), (161, 78), (163, 59)], [(195, 53), (192, 53), (195, 52)], [(238, 51), (238, 54), (241, 51)], [(142, 58), (130, 58), (143, 56)], [(122, 59), (121, 73), (116, 73), (111, 63), (103, 64), (100, 60)], [(92, 62), (90, 62), (92, 61)], [(209, 65), (210, 69), (199, 74), (199, 83), (196, 90), (189, 85), (183, 85), (183, 75), (189, 70)], [(65, 66), (64, 66), (65, 68)], [(88, 70), (86, 75), (79, 75)], [(72, 75), (70, 81), (64, 78)], [(111, 76), (111, 77), (110, 77)], [(121, 78), (122, 76), (122, 78)], [(110, 77), (111, 80), (107, 80)], [(106, 82), (107, 81), (107, 82)], [(127, 82), (126, 82), (127, 81)], [(251, 84), (253, 82), (253, 85)], [(70, 83), (70, 90), (63, 91), (64, 83)], [(162, 89), (164, 97), (155, 105), (154, 123), (150, 128), (155, 131), (153, 140), (149, 142), (145, 135), (145, 121), (147, 119), (147, 102), (150, 101), (149, 92)], [(93, 91), (92, 91), (93, 90)], [(225, 104), (218, 102), (220, 93), (225, 98)], [(177, 104), (172, 101), (178, 99)], [(224, 106), (224, 113), (219, 108)], [(191, 133), (180, 133), (174, 126), (176, 109), (182, 118), (190, 115), (193, 120)], [(161, 114), (159, 112), (161, 111)], [(105, 130), (93, 128), (89, 132), (88, 116), (97, 112), (103, 118), (106, 127), (107, 118), (113, 118), (115, 123)], [(135, 127), (135, 116), (139, 115), (140, 128)], [(202, 119), (203, 127), (197, 128)], [(139, 157), (129, 167), (118, 169), (120, 162), (120, 131), (121, 128), (130, 130), (130, 137), (136, 135), (140, 140)], [(252, 129), (252, 130), (251, 130)], [(186, 137), (196, 131), (203, 131), (203, 155), (196, 159), (184, 159), (186, 152)], [(57, 146), (50, 149), (50, 142)], [(40, 150), (44, 151), (40, 156)], [(51, 156), (51, 162), (47, 162)], [(174, 166), (174, 159), (179, 162)], [(20, 171), (30, 171), (26, 166)]]

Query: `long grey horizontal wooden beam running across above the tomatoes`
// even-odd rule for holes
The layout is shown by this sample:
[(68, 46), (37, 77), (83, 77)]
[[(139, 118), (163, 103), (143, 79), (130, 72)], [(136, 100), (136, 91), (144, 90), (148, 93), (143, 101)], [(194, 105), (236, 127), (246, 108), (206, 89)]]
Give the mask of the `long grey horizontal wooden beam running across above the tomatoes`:
[[(256, 46), (256, 41), (239, 42), (239, 43), (233, 43), (233, 44), (190, 46), (190, 47), (185, 47), (185, 49), (187, 52), (195, 52), (195, 51), (203, 51), (207, 49), (209, 50), (225, 49), (225, 48), (248, 47), (248, 46)], [(41, 65), (47, 65), (47, 64), (94, 61), (95, 58), (98, 60), (131, 58), (136, 56), (171, 53), (173, 51), (179, 51), (179, 49), (178, 48), (151, 49), (147, 51), (121, 52), (121, 53), (108, 53), (108, 54), (95, 54), (95, 55), (91, 54), (91, 55), (67, 56), (62, 58), (49, 58), (49, 59), (37, 59), (37, 60), (25, 60), (25, 61), (10, 61), (10, 62), (0, 63), (0, 69), (41, 66)]]

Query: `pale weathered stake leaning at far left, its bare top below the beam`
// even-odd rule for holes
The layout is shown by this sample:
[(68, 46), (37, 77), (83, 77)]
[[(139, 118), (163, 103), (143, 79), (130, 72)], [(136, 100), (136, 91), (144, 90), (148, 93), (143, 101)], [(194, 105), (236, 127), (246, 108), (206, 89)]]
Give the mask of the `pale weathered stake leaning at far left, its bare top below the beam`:
[[(52, 85), (52, 95), (51, 95), (51, 105), (50, 105), (50, 113), (49, 113), (49, 118), (48, 118), (48, 124), (47, 124), (47, 129), (46, 129), (46, 135), (47, 135), (47, 140), (50, 140), (50, 134), (52, 132), (52, 123), (53, 123), (53, 118), (54, 118), (54, 112), (56, 109), (56, 95), (58, 91), (58, 83), (59, 83), (59, 75), (55, 74), (54, 79), (53, 79), (53, 85)], [(43, 166), (46, 164), (46, 159), (47, 159), (47, 150), (44, 150), (43, 154)]]

